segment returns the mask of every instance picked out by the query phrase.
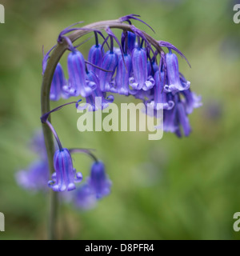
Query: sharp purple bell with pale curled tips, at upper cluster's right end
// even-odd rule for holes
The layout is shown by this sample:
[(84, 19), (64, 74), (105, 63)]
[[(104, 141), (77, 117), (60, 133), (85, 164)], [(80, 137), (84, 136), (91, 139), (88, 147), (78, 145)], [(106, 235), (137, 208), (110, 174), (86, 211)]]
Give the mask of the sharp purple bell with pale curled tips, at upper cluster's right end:
[(166, 92), (176, 93), (180, 90), (187, 90), (190, 87), (190, 82), (181, 82), (178, 70), (178, 57), (171, 50), (166, 54), (166, 72), (167, 84), (164, 87)]

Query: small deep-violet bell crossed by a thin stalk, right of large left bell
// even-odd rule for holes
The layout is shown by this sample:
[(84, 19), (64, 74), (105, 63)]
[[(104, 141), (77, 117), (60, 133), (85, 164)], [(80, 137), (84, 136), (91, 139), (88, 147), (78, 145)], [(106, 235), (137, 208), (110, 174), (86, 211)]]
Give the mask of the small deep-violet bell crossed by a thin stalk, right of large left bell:
[[(104, 54), (104, 49), (102, 48), (102, 46), (100, 44), (94, 45), (90, 48), (90, 51), (88, 54), (88, 61), (94, 64), (95, 66), (101, 66), (102, 54)], [(88, 64), (87, 69), (99, 75), (100, 70), (95, 66)]]

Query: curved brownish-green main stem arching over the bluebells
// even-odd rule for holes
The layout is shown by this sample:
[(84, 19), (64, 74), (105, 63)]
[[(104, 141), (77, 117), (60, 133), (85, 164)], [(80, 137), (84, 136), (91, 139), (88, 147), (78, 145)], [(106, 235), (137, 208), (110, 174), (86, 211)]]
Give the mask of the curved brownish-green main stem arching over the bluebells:
[[(93, 30), (106, 30), (108, 27), (121, 29), (121, 30), (131, 30), (131, 26), (126, 23), (122, 23), (119, 20), (111, 20), (111, 21), (104, 21), (104, 22), (95, 22), (90, 25), (84, 26), (84, 29), (90, 30), (76, 30), (68, 35), (68, 38), (71, 42), (76, 41), (78, 38), (81, 38), (85, 34), (89, 34), (93, 32)], [(151, 38), (149, 34), (146, 34), (142, 31), (142, 34), (146, 37), (146, 39), (153, 45), (159, 52), (162, 51), (162, 48), (158, 45), (158, 42)], [(54, 70), (58, 65), (60, 58), (62, 58), (62, 54), (68, 49), (68, 44), (66, 40), (63, 40), (61, 43), (54, 48), (53, 52), (50, 55), (50, 59), (47, 62), (46, 70), (43, 75), (42, 79), (42, 93), (41, 93), (41, 110), (42, 115), (50, 112), (50, 86), (54, 76)], [(49, 118), (50, 122), (50, 118)], [(42, 130), (44, 134), (45, 144), (46, 144), (46, 153), (48, 157), (48, 163), (50, 168), (50, 173), (54, 173), (54, 140), (53, 134), (50, 128), (46, 125), (46, 123), (42, 123)], [(57, 208), (58, 208), (58, 195), (54, 191), (50, 191), (50, 212), (49, 212), (49, 232), (48, 238), (49, 239), (56, 239), (57, 238), (57, 231), (56, 231), (56, 220), (57, 220)]]

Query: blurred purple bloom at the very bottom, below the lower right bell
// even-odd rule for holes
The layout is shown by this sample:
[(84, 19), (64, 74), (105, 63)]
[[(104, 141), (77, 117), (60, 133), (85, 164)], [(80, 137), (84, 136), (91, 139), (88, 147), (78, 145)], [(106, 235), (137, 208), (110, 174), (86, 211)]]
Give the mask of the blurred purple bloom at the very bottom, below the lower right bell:
[(96, 206), (97, 198), (90, 186), (85, 183), (74, 191), (74, 206), (82, 210), (90, 210)]

